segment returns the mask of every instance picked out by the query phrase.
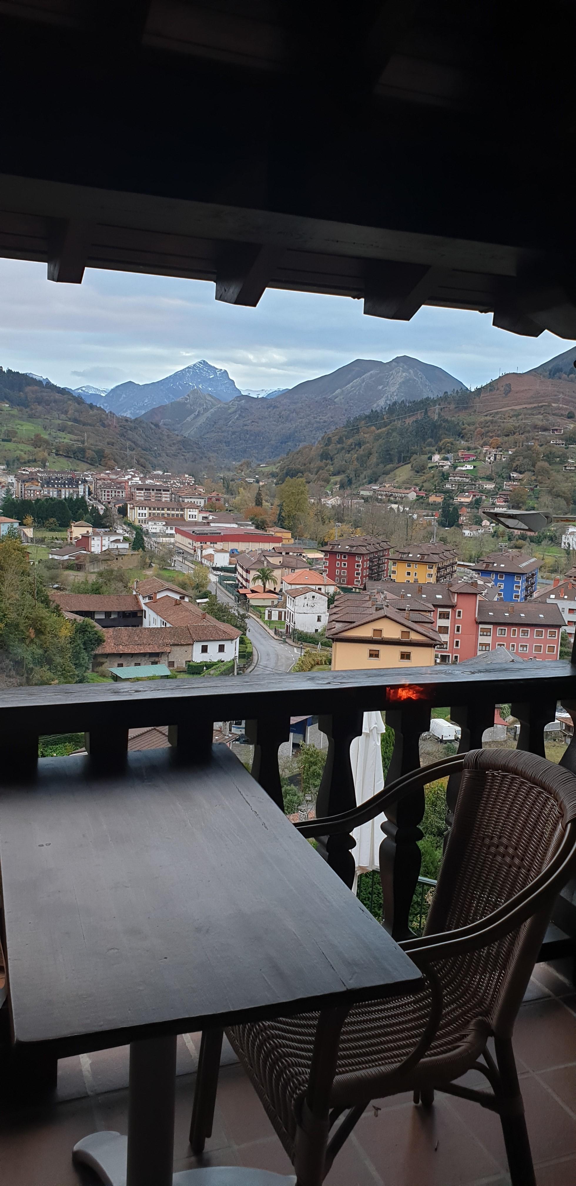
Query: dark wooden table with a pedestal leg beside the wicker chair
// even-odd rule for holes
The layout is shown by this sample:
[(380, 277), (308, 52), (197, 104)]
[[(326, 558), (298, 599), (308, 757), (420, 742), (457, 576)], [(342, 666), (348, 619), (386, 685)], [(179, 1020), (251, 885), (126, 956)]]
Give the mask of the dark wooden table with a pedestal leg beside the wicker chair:
[[(89, 758), (41, 759), (0, 789), (0, 872), (17, 1046), (132, 1044), (128, 1172), (126, 1137), (100, 1158), (114, 1186), (172, 1182), (177, 1034), (421, 981), (224, 746), (200, 766), (136, 752), (101, 776)], [(78, 1156), (98, 1168), (102, 1143)]]

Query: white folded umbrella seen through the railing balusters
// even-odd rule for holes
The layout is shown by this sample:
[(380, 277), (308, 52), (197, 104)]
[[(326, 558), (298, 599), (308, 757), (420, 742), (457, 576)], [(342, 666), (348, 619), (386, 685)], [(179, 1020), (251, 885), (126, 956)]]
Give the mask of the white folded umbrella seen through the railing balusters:
[[(380, 713), (364, 713), (361, 734), (354, 738), (350, 746), (358, 805), (372, 798), (372, 795), (377, 795), (384, 786), (380, 750), (380, 737), (384, 729), (385, 725)], [(356, 860), (357, 876), (359, 873), (369, 873), (370, 869), (378, 868), (378, 849), (384, 839), (380, 824), (385, 818), (384, 815), (378, 815), (375, 820), (354, 828), (352, 833), (356, 840), (356, 848), (352, 849), (352, 853)]]

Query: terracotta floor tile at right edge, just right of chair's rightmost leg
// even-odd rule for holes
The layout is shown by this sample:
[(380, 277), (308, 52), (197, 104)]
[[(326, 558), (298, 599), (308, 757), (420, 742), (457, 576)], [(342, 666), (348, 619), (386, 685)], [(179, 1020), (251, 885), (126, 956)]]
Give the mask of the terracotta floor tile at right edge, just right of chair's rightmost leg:
[(514, 1026), (513, 1044), (518, 1058), (532, 1071), (574, 1063), (576, 1016), (558, 1000), (523, 1005)]

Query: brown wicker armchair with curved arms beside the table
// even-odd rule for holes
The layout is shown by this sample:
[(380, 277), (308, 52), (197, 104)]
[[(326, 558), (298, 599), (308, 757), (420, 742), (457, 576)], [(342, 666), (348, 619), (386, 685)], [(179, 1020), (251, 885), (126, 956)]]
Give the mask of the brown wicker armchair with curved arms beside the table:
[[(533, 754), (473, 751), (300, 830), (350, 831), (455, 770), (462, 770), (457, 806), (425, 931), (401, 944), (424, 975), (423, 990), (226, 1031), (297, 1186), (324, 1181), (371, 1099), (410, 1090), (415, 1103), (430, 1107), (435, 1089), (499, 1112), (512, 1184), (536, 1186), (512, 1031), (555, 897), (575, 865), (576, 778)], [(220, 1046), (222, 1032), (203, 1034), (194, 1153), (212, 1128)], [(471, 1067), (488, 1090), (455, 1082)]]

